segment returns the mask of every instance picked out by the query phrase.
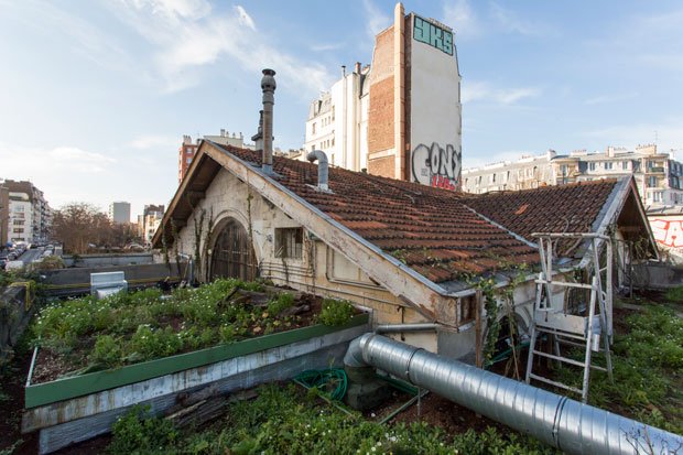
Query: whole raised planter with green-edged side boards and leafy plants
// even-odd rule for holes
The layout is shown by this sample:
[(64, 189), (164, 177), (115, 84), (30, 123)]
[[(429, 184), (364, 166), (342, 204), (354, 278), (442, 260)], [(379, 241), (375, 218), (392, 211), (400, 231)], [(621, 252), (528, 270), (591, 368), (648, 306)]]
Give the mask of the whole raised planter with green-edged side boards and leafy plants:
[(41, 430), (47, 453), (108, 431), (138, 403), (161, 411), (197, 389), (226, 393), (338, 364), (367, 322), (349, 302), (236, 280), (61, 302), (35, 323), (22, 430)]

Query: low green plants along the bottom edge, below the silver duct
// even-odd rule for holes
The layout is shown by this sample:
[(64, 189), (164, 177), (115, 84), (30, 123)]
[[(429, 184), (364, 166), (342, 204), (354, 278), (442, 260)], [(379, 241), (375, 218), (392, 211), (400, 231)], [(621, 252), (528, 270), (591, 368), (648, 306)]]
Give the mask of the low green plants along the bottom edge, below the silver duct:
[[(110, 454), (545, 454), (550, 447), (489, 427), (448, 434), (425, 422), (380, 424), (329, 407), (315, 390), (267, 384), (213, 425), (178, 430), (134, 409), (113, 426)], [(145, 419), (147, 416), (147, 419)]]

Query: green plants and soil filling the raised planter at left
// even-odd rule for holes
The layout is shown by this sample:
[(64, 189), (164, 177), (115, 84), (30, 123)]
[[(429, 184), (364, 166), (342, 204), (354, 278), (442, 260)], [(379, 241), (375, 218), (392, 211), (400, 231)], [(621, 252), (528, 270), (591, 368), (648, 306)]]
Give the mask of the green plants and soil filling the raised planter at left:
[(96, 371), (317, 322), (340, 325), (353, 315), (348, 302), (325, 300), (316, 305), (306, 297), (302, 304), (293, 293), (265, 292), (262, 283), (219, 279), (167, 295), (148, 289), (102, 300), (55, 302), (33, 325), (41, 349), (32, 380), (55, 379), (55, 370)]

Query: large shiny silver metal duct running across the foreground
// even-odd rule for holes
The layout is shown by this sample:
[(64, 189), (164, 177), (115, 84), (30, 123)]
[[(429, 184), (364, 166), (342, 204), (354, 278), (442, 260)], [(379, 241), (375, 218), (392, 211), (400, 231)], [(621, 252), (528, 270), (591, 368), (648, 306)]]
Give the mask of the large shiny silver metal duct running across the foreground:
[(349, 367), (372, 366), (570, 454), (674, 454), (683, 437), (415, 346), (366, 334)]

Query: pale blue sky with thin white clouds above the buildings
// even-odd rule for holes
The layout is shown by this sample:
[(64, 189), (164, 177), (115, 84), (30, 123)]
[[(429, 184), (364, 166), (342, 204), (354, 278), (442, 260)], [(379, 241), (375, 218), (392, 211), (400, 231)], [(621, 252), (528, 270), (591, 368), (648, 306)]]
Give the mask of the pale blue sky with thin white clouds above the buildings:
[[(386, 0), (0, 0), (0, 178), (54, 208), (167, 204), (183, 134), (256, 132), (277, 71), (274, 147), (370, 63)], [(406, 0), (454, 29), (463, 166), (657, 142), (683, 160), (683, 2)]]

